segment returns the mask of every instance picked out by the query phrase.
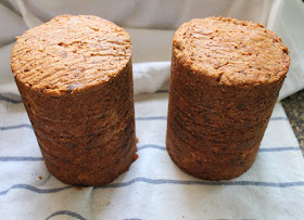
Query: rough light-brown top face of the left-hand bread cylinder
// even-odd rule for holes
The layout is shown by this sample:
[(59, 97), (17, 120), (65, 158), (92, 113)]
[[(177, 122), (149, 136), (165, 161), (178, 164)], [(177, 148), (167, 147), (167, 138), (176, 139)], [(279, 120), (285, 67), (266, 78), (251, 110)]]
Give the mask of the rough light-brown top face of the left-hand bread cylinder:
[(60, 94), (109, 81), (130, 57), (122, 27), (91, 15), (61, 15), (17, 38), (11, 66), (16, 80)]

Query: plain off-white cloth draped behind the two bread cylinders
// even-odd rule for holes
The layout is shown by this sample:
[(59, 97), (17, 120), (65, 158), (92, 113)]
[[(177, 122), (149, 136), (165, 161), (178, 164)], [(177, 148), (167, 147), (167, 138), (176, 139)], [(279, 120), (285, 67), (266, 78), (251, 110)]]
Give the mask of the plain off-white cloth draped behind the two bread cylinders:
[[(147, 70), (140, 80), (140, 89), (136, 92), (154, 92), (161, 87), (161, 82), (168, 79), (169, 62), (166, 64), (156, 62), (170, 60), (172, 40), (178, 26), (191, 18), (223, 15), (259, 22), (277, 33), (288, 46), (291, 65), (279, 100), (304, 88), (304, 43), (302, 40), (304, 28), (299, 28), (304, 18), (304, 3), (301, 0), (214, 0), (175, 1), (174, 3), (169, 0), (162, 3), (159, 0), (143, 0), (140, 3), (132, 0), (89, 3), (86, 0), (69, 3), (62, 0), (50, 2), (12, 0), (4, 1), (2, 4), (0, 3), (1, 70), (10, 69), (10, 62), (8, 62), (10, 50), (8, 49), (11, 46), (8, 46), (8, 42), (12, 42), (15, 35), (22, 35), (27, 27), (37, 26), (64, 13), (96, 14), (127, 27), (134, 44), (134, 63), (153, 62), (149, 65), (151, 70)], [(7, 46), (3, 47), (4, 44)], [(0, 74), (9, 74), (9, 72)], [(157, 82), (151, 80), (152, 78), (157, 78)], [(3, 87), (0, 81), (0, 87)]]

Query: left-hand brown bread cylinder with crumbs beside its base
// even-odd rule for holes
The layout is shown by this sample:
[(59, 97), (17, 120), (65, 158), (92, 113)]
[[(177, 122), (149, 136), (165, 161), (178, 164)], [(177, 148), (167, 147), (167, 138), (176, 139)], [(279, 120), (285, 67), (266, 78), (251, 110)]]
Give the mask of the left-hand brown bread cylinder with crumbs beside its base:
[(27, 30), (11, 67), (46, 165), (67, 184), (103, 185), (135, 159), (129, 35), (90, 15)]

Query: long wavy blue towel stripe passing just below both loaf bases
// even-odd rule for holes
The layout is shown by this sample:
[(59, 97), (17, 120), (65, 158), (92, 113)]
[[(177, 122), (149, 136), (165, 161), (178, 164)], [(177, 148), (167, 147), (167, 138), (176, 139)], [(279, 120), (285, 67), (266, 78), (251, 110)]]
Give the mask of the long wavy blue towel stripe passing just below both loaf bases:
[[(294, 186), (304, 186), (304, 181), (297, 182), (259, 182), (259, 181), (224, 181), (224, 182), (211, 182), (211, 181), (195, 181), (195, 180), (169, 180), (169, 179), (149, 179), (144, 177), (135, 178), (128, 182), (122, 183), (110, 183), (103, 186), (96, 186), (94, 189), (116, 189), (116, 187), (127, 187), (135, 183), (148, 183), (151, 185), (164, 185), (164, 184), (174, 184), (174, 185), (208, 185), (208, 186), (264, 186), (264, 187), (294, 187)], [(38, 194), (49, 194), (56, 193), (64, 190), (69, 190), (76, 186), (63, 186), (56, 189), (37, 189), (28, 184), (15, 184), (5, 191), (0, 191), (0, 196), (5, 195), (11, 190), (28, 190)]]

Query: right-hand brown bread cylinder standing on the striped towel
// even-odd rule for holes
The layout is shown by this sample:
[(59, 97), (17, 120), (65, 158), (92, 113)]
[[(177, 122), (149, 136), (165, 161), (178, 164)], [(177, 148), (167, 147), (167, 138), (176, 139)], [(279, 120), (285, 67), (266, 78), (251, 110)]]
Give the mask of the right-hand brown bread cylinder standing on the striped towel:
[(205, 180), (228, 180), (253, 164), (289, 68), (270, 30), (227, 17), (192, 20), (173, 41), (167, 151)]

